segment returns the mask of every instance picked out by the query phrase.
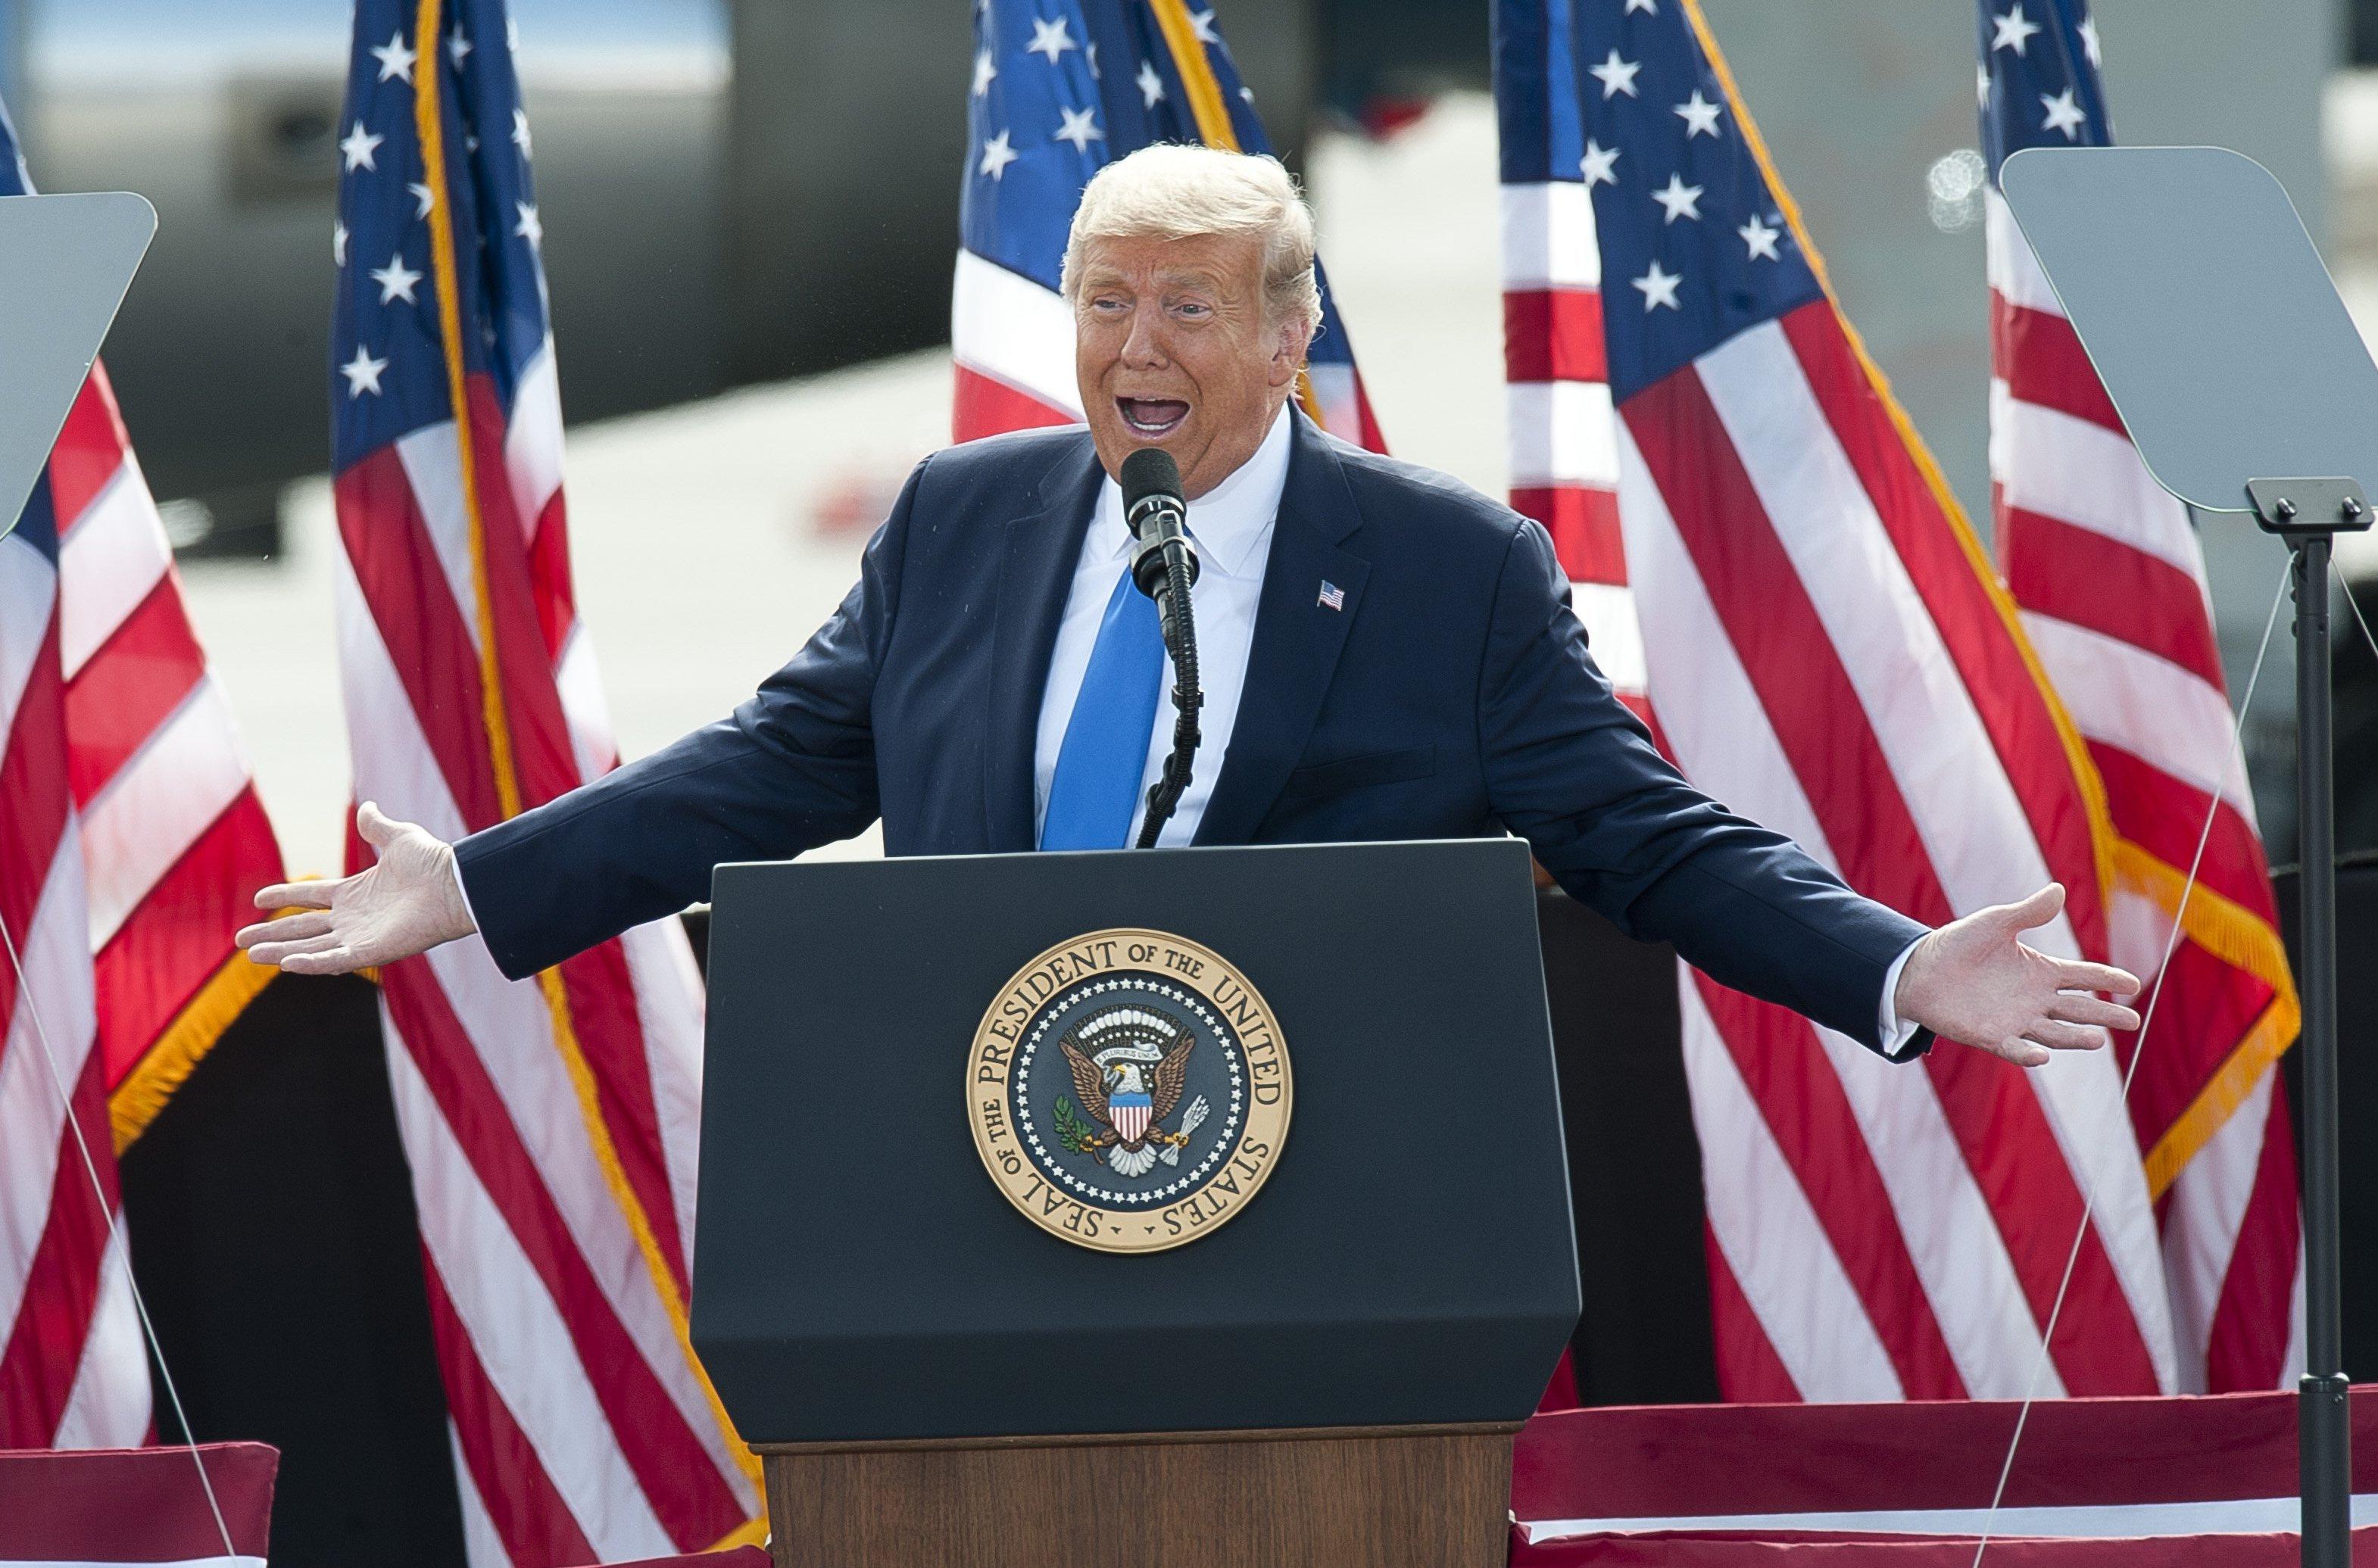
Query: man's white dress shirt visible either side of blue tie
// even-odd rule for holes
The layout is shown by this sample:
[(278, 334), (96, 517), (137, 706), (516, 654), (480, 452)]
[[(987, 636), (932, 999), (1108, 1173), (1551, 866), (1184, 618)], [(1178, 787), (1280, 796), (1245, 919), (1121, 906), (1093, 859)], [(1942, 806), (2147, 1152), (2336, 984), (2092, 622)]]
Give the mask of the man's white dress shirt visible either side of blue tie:
[[(1196, 765), (1189, 789), (1156, 843), (1189, 843), (1213, 782), (1229, 753), (1229, 732), (1239, 725), (1239, 689), (1246, 687), (1246, 651), (1256, 641), (1256, 606), (1263, 601), (1263, 565), (1272, 556), (1272, 523), (1279, 516), (1279, 492), (1289, 482), (1289, 411), (1279, 409), (1256, 456), (1210, 492), (1189, 501), (1189, 539), (1196, 542), (1199, 575), (1189, 596), (1196, 618), (1196, 670), (1206, 689), (1199, 710)], [(1127, 570), (1132, 530), (1122, 520), (1122, 487), (1113, 478), (1099, 485), (1099, 506), (1082, 537), (1082, 558), (1072, 568), (1065, 594), (1065, 620), (1056, 627), (1056, 653), (1049, 658), (1049, 684), (1042, 689), (1039, 732), (1032, 741), (1032, 822), (1049, 817), (1049, 784), (1056, 779), (1056, 753), (1065, 746), (1072, 698), (1089, 672), (1089, 651), (1106, 620), (1106, 601)], [(1149, 727), (1149, 763), (1139, 774), (1139, 803), (1132, 808), (1130, 843), (1139, 843), (1139, 822), (1149, 815), (1149, 784), (1172, 755), (1172, 656), (1165, 653), (1165, 679), (1156, 698), (1156, 725)]]

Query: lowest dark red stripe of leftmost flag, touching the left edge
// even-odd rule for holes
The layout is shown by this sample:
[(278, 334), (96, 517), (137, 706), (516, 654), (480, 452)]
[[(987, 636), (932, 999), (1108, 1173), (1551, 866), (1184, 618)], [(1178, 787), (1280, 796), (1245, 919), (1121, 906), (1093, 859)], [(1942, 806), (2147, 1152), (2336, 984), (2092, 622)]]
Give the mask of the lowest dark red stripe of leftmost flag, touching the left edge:
[(17, 1323), (0, 1349), (0, 1449), (45, 1449), (57, 1442), (57, 1423), (67, 1411), (67, 1395), (74, 1392), (74, 1373), (83, 1364), (83, 1338), (100, 1300), (107, 1214), (117, 1207), (117, 1162), (100, 1074), (100, 1055), (90, 1052), (74, 1081), (74, 1121), (90, 1140), (107, 1209), (100, 1209), (90, 1190), (74, 1126), (59, 1119), (57, 1157), (50, 1166), (50, 1214), (26, 1266)]

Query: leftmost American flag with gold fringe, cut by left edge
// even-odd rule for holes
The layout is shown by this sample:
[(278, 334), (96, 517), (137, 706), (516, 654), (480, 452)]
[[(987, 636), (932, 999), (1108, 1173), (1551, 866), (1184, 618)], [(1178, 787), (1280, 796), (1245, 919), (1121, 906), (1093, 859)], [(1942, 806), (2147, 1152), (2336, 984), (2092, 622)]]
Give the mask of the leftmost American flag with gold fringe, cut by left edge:
[[(31, 190), (0, 109), (0, 195)], [(133, 1444), (150, 1383), (114, 1155), (269, 979), (231, 934), (281, 851), (100, 366), (0, 539), (0, 822), (29, 981), (0, 965), (0, 1447)]]

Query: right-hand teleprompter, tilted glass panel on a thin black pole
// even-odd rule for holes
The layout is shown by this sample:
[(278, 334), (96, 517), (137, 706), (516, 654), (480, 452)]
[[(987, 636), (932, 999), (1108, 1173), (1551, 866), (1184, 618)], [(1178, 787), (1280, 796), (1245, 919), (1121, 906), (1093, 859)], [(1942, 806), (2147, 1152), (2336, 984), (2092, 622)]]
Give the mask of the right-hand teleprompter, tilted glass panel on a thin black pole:
[[(2252, 513), (2292, 554), (2304, 865), (2302, 1561), (2347, 1568), (2328, 594), (2335, 535), (2371, 525), (2378, 366), (2288, 192), (2238, 152), (2040, 147), (2009, 157), (2002, 183), (2154, 480), (2197, 511)], [(2204, 777), (2221, 777), (2221, 763), (2204, 758)]]

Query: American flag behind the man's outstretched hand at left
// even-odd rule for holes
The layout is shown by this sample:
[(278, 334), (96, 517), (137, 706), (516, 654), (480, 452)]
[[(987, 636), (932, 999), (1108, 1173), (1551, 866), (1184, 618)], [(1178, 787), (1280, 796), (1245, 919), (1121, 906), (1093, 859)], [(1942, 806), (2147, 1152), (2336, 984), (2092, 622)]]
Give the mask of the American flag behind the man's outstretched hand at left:
[[(361, 0), (340, 114), (347, 736), (357, 796), (440, 839), (616, 765), (514, 50), (502, 0)], [(702, 991), (678, 924), (521, 984), (449, 943), (383, 972), (380, 1017), (471, 1561), (759, 1539), (759, 1466), (685, 1333)]]

